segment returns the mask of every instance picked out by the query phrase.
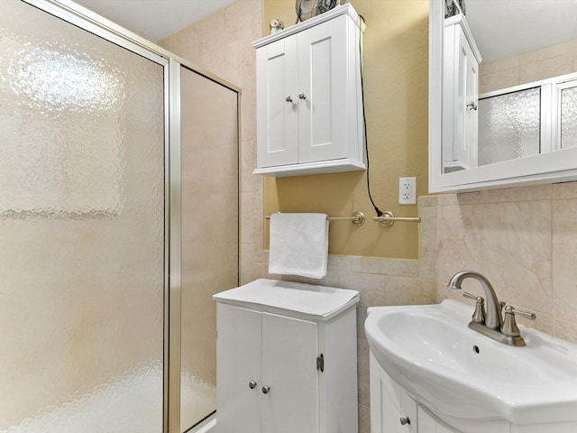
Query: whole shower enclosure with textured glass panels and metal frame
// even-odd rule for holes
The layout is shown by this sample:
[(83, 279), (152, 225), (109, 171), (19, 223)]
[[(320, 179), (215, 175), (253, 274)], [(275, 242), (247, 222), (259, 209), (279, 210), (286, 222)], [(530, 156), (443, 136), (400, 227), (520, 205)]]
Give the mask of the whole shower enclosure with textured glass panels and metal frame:
[(68, 0), (0, 2), (0, 433), (180, 433), (214, 413), (239, 106)]

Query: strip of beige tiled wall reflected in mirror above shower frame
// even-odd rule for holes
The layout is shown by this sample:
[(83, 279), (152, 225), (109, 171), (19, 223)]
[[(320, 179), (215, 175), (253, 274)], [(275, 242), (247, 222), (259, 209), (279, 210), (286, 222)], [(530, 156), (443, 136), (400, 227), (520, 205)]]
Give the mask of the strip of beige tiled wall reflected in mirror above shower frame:
[(577, 72), (577, 40), (479, 66), (480, 93)]

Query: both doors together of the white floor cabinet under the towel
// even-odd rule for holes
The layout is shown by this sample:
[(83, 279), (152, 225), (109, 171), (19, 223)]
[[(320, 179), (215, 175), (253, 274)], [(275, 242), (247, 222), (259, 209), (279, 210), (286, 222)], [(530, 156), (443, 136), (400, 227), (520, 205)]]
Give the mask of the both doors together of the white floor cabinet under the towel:
[(316, 322), (217, 309), (217, 432), (318, 433)]

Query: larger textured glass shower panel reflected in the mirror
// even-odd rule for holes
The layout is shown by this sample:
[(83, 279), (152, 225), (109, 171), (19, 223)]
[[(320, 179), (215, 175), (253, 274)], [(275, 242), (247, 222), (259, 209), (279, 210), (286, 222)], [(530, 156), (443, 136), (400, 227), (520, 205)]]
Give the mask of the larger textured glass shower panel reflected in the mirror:
[(541, 88), (479, 100), (479, 165), (540, 152)]

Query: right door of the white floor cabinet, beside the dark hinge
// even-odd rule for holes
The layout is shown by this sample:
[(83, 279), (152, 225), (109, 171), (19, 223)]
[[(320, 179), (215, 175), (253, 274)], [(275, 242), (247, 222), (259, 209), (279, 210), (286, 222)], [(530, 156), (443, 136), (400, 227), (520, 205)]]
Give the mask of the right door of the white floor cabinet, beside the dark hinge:
[(317, 341), (314, 322), (262, 314), (261, 431), (318, 432)]

